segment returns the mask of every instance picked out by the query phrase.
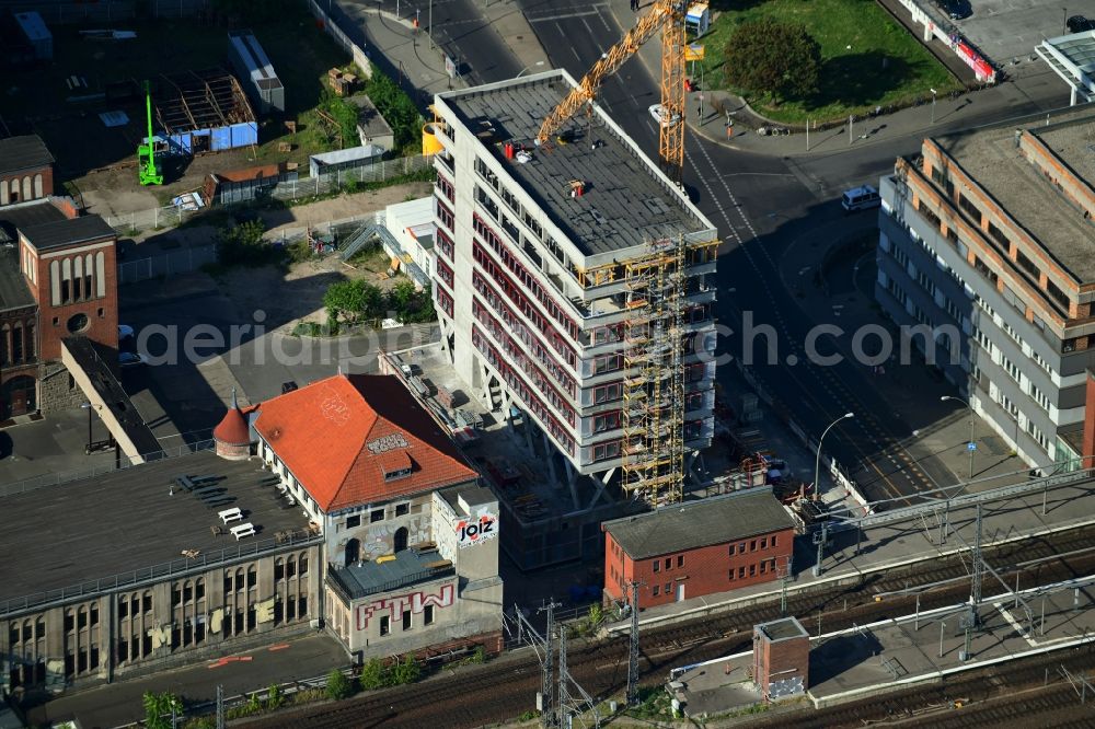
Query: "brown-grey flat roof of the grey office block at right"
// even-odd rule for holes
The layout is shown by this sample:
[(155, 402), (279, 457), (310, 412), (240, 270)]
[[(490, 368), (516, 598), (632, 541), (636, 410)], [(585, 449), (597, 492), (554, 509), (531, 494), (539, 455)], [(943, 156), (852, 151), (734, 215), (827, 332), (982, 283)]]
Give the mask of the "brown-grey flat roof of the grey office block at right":
[(1051, 125), (1001, 124), (934, 138), (1007, 215), (1081, 282), (1095, 281), (1095, 224), (1070, 202), (1015, 143), (1015, 131), (1038, 137), (1065, 169), (1095, 185), (1095, 111), (1070, 109), (1051, 116)]

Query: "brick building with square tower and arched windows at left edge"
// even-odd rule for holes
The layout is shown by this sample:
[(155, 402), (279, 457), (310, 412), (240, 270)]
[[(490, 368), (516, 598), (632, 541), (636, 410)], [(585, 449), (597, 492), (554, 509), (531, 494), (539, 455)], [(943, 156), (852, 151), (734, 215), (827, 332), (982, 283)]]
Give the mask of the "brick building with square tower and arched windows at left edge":
[(71, 199), (0, 208), (0, 419), (82, 398), (61, 339), (117, 348), (117, 233)]

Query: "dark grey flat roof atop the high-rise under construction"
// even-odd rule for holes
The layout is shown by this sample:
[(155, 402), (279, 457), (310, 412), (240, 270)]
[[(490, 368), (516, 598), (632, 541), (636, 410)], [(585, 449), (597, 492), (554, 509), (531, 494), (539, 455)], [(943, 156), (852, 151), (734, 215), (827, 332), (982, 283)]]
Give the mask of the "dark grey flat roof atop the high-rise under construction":
[[(568, 143), (533, 149), (541, 123), (574, 86), (577, 83), (566, 71), (555, 70), (447, 91), (437, 99), (504, 161), (510, 176), (584, 255), (681, 233), (714, 232), (715, 225), (599, 104), (593, 104), (592, 116), (578, 114), (563, 125), (560, 134), (569, 136)], [(591, 149), (590, 121), (597, 149)], [(507, 141), (530, 149), (532, 161), (505, 160), (502, 144)], [(586, 183), (581, 197), (570, 197), (574, 180)]]

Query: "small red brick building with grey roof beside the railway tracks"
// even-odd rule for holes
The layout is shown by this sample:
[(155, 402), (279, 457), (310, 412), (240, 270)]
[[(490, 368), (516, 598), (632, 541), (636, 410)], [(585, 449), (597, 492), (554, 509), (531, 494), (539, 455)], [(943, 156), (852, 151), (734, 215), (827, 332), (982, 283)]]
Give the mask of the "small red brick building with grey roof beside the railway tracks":
[(795, 524), (770, 489), (737, 491), (614, 519), (604, 531), (604, 595), (639, 610), (776, 579)]

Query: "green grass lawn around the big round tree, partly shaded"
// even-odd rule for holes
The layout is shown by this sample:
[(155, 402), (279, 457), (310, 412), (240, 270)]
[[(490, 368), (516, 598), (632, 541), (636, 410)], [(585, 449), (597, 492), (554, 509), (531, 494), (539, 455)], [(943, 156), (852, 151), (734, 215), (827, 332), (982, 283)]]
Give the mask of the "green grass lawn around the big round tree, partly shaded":
[(746, 20), (771, 18), (800, 23), (821, 45), (821, 81), (816, 95), (779, 105), (770, 99), (746, 96), (759, 113), (779, 121), (842, 119), (875, 106), (930, 96), (929, 89), (943, 94), (961, 86), (875, 0), (724, 0), (712, 4), (719, 12), (699, 40), (706, 50), (701, 63), (708, 88), (727, 88), (724, 49), (734, 28)]

